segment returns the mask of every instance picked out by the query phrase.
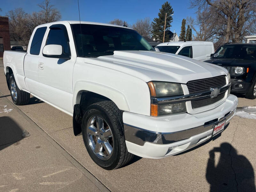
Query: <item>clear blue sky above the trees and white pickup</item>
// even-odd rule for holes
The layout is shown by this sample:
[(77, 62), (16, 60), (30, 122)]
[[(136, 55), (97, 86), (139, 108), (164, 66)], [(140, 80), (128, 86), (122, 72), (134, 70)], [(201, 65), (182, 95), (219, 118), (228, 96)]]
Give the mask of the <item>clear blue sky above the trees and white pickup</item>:
[[(195, 10), (189, 9), (190, 0), (171, 0), (174, 15), (172, 27), (170, 30), (180, 34), (181, 21), (187, 16), (195, 17)], [(118, 0), (118, 1), (101, 1), (101, 0), (79, 0), (81, 20), (108, 23), (116, 18), (125, 20), (132, 25), (138, 19), (149, 17), (153, 20), (157, 17), (159, 9), (165, 1), (162, 0)], [(0, 5), (2, 12), (6, 12), (15, 8), (23, 8), (25, 12), (31, 13), (38, 11), (37, 4), (41, 0), (7, 0)], [(79, 20), (77, 0), (52, 0), (51, 3), (59, 9), (62, 15), (61, 20)], [(194, 34), (194, 32), (192, 31)]]

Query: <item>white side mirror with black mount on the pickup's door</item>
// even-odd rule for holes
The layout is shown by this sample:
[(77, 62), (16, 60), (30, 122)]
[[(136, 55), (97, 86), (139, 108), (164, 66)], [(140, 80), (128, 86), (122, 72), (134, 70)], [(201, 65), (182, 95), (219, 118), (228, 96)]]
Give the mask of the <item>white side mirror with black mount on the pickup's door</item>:
[(43, 56), (67, 60), (70, 59), (70, 55), (63, 52), (63, 47), (61, 45), (45, 45), (43, 48)]

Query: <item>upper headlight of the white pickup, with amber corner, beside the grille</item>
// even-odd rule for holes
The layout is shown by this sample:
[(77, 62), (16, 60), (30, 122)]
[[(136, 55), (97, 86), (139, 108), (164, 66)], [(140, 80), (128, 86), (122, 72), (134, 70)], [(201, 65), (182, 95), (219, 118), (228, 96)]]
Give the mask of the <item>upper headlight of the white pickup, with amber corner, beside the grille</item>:
[(151, 97), (183, 95), (181, 84), (161, 81), (148, 82)]

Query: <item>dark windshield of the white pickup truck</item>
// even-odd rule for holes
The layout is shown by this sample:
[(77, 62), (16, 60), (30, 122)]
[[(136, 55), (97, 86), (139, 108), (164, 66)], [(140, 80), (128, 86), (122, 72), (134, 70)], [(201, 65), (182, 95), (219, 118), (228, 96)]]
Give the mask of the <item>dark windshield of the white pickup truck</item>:
[(114, 51), (155, 51), (132, 29), (93, 24), (72, 24), (78, 57), (113, 55)]

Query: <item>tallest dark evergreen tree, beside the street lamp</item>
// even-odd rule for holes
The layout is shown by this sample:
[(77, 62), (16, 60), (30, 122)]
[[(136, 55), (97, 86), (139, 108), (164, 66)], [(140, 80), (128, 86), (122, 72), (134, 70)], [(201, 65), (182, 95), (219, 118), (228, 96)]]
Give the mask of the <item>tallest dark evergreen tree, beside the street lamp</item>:
[[(164, 37), (164, 20), (165, 20), (165, 13), (167, 13), (167, 18), (166, 18), (166, 26), (165, 26), (165, 37)], [(163, 37), (164, 41), (169, 41), (170, 37), (169, 35), (166, 35), (166, 30), (169, 30), (172, 22), (172, 16), (173, 10), (172, 6), (170, 3), (165, 2), (162, 5), (162, 8), (159, 9), (158, 17), (155, 18), (152, 22), (152, 38), (154, 38), (157, 42), (163, 42)]]

